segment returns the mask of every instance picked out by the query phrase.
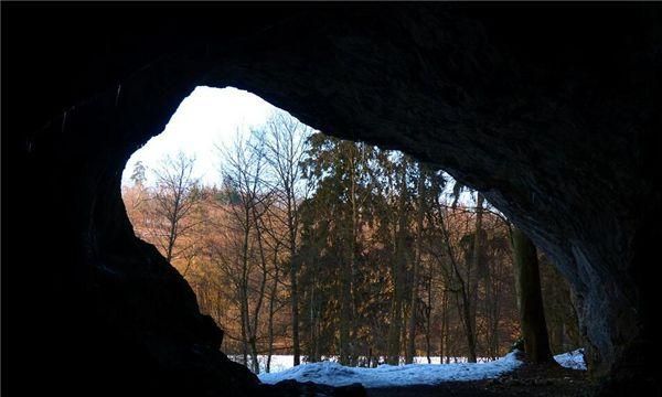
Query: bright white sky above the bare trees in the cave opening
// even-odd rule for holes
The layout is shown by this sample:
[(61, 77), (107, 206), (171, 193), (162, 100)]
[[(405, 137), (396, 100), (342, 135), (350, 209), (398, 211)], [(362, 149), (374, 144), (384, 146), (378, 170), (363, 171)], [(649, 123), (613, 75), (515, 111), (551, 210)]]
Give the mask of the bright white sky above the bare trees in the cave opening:
[[(131, 172), (136, 162), (149, 169), (159, 167), (161, 159), (174, 155), (179, 150), (195, 157), (194, 175), (204, 184), (220, 183), (220, 152), (217, 146), (228, 146), (236, 135), (259, 126), (275, 106), (248, 92), (226, 87), (196, 87), (180, 104), (160, 135), (137, 150), (125, 167), (122, 184), (131, 185)], [(147, 183), (153, 178), (147, 173)]]

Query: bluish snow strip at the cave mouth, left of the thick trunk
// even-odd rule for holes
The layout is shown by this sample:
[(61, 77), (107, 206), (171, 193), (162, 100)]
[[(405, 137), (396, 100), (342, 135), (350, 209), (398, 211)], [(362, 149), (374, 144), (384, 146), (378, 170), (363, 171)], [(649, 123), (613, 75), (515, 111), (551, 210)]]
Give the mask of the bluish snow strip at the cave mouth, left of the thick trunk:
[(260, 374), (263, 383), (276, 384), (285, 379), (313, 382), (329, 386), (360, 383), (364, 387), (435, 385), (450, 380), (478, 380), (494, 378), (515, 369), (522, 362), (515, 352), (488, 363), (452, 364), (383, 364), (376, 368), (346, 367), (325, 361), (299, 365), (282, 372)]

